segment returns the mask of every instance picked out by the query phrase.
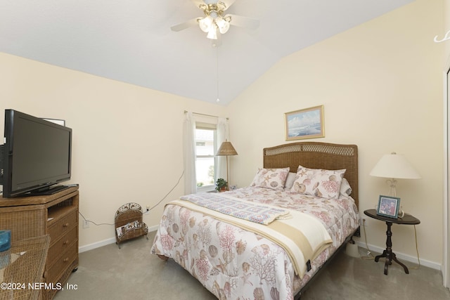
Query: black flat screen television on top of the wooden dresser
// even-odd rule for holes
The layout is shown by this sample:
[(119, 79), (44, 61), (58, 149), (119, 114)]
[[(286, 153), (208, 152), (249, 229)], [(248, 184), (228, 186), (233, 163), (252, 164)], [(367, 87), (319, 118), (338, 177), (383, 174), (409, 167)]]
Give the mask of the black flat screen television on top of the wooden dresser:
[(5, 110), (0, 149), (3, 197), (49, 195), (70, 180), (72, 129), (17, 110)]

